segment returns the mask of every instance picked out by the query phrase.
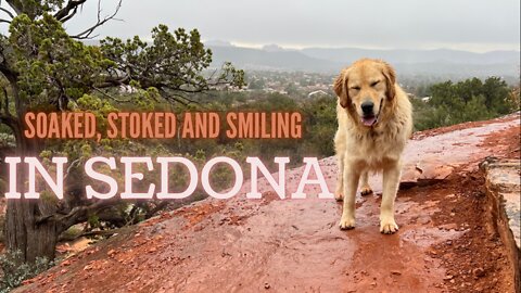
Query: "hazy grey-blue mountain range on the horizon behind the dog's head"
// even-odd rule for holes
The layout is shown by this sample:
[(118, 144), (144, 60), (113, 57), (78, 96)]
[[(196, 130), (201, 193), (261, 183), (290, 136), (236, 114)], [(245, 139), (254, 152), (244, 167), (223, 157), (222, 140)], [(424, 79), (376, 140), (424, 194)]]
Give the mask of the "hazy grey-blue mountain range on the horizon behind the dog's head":
[(209, 46), (214, 52), (213, 66), (225, 61), (244, 69), (303, 71), (338, 73), (360, 58), (383, 59), (405, 75), (446, 77), (486, 77), (491, 75), (518, 77), (519, 51), (474, 53), (458, 50), (369, 50), (358, 48), (306, 48), (284, 50), (269, 44), (263, 49)]

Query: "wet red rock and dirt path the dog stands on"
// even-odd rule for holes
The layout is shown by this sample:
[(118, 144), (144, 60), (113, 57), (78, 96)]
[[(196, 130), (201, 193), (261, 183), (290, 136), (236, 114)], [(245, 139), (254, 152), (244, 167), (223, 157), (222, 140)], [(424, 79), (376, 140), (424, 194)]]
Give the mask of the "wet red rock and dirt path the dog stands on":
[[(518, 142), (519, 115), (417, 133), (405, 155), (396, 202), (401, 230), (393, 235), (378, 229), (379, 177), (372, 179), (376, 194), (357, 195), (351, 231), (338, 228), (334, 200), (282, 201), (263, 179), (263, 200), (241, 193), (165, 214), (20, 291), (510, 292), (505, 251), (483, 216), (476, 168), (488, 155), (519, 156)], [(320, 164), (334, 190), (335, 160)], [(287, 174), (289, 192), (301, 173)]]

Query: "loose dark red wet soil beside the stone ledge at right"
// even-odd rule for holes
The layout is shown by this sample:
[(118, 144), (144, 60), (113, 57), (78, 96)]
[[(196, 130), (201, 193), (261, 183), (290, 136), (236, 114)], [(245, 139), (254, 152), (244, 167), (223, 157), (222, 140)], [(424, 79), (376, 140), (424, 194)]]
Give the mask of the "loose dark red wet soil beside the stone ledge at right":
[[(507, 251), (487, 214), (484, 187), (483, 174), (475, 170), (428, 188), (429, 200), (440, 202), (432, 216), (434, 226), (460, 232), (428, 251), (445, 268), (439, 284), (448, 292), (513, 292)], [(424, 204), (415, 196), (418, 192), (422, 191), (411, 189), (404, 196), (411, 193), (412, 201)]]

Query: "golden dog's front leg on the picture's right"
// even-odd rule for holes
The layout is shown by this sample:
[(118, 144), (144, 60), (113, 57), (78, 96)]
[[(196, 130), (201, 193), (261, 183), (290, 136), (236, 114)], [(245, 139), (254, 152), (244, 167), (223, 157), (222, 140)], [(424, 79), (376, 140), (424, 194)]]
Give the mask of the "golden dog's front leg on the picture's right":
[(394, 162), (383, 169), (383, 194), (382, 205), (380, 206), (380, 232), (392, 234), (398, 231), (398, 226), (394, 221), (394, 200), (398, 191), (401, 176), (401, 166)]

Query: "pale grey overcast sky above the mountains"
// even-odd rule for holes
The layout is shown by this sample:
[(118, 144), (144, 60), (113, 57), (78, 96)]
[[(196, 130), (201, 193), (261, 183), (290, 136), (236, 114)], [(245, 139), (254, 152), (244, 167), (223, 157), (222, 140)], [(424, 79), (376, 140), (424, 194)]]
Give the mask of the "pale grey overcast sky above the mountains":
[[(117, 1), (101, 2), (109, 14)], [(97, 3), (67, 23), (71, 33), (94, 21)], [(124, 0), (117, 16), (100, 37), (147, 38), (164, 23), (250, 47), (520, 49), (519, 0)]]

